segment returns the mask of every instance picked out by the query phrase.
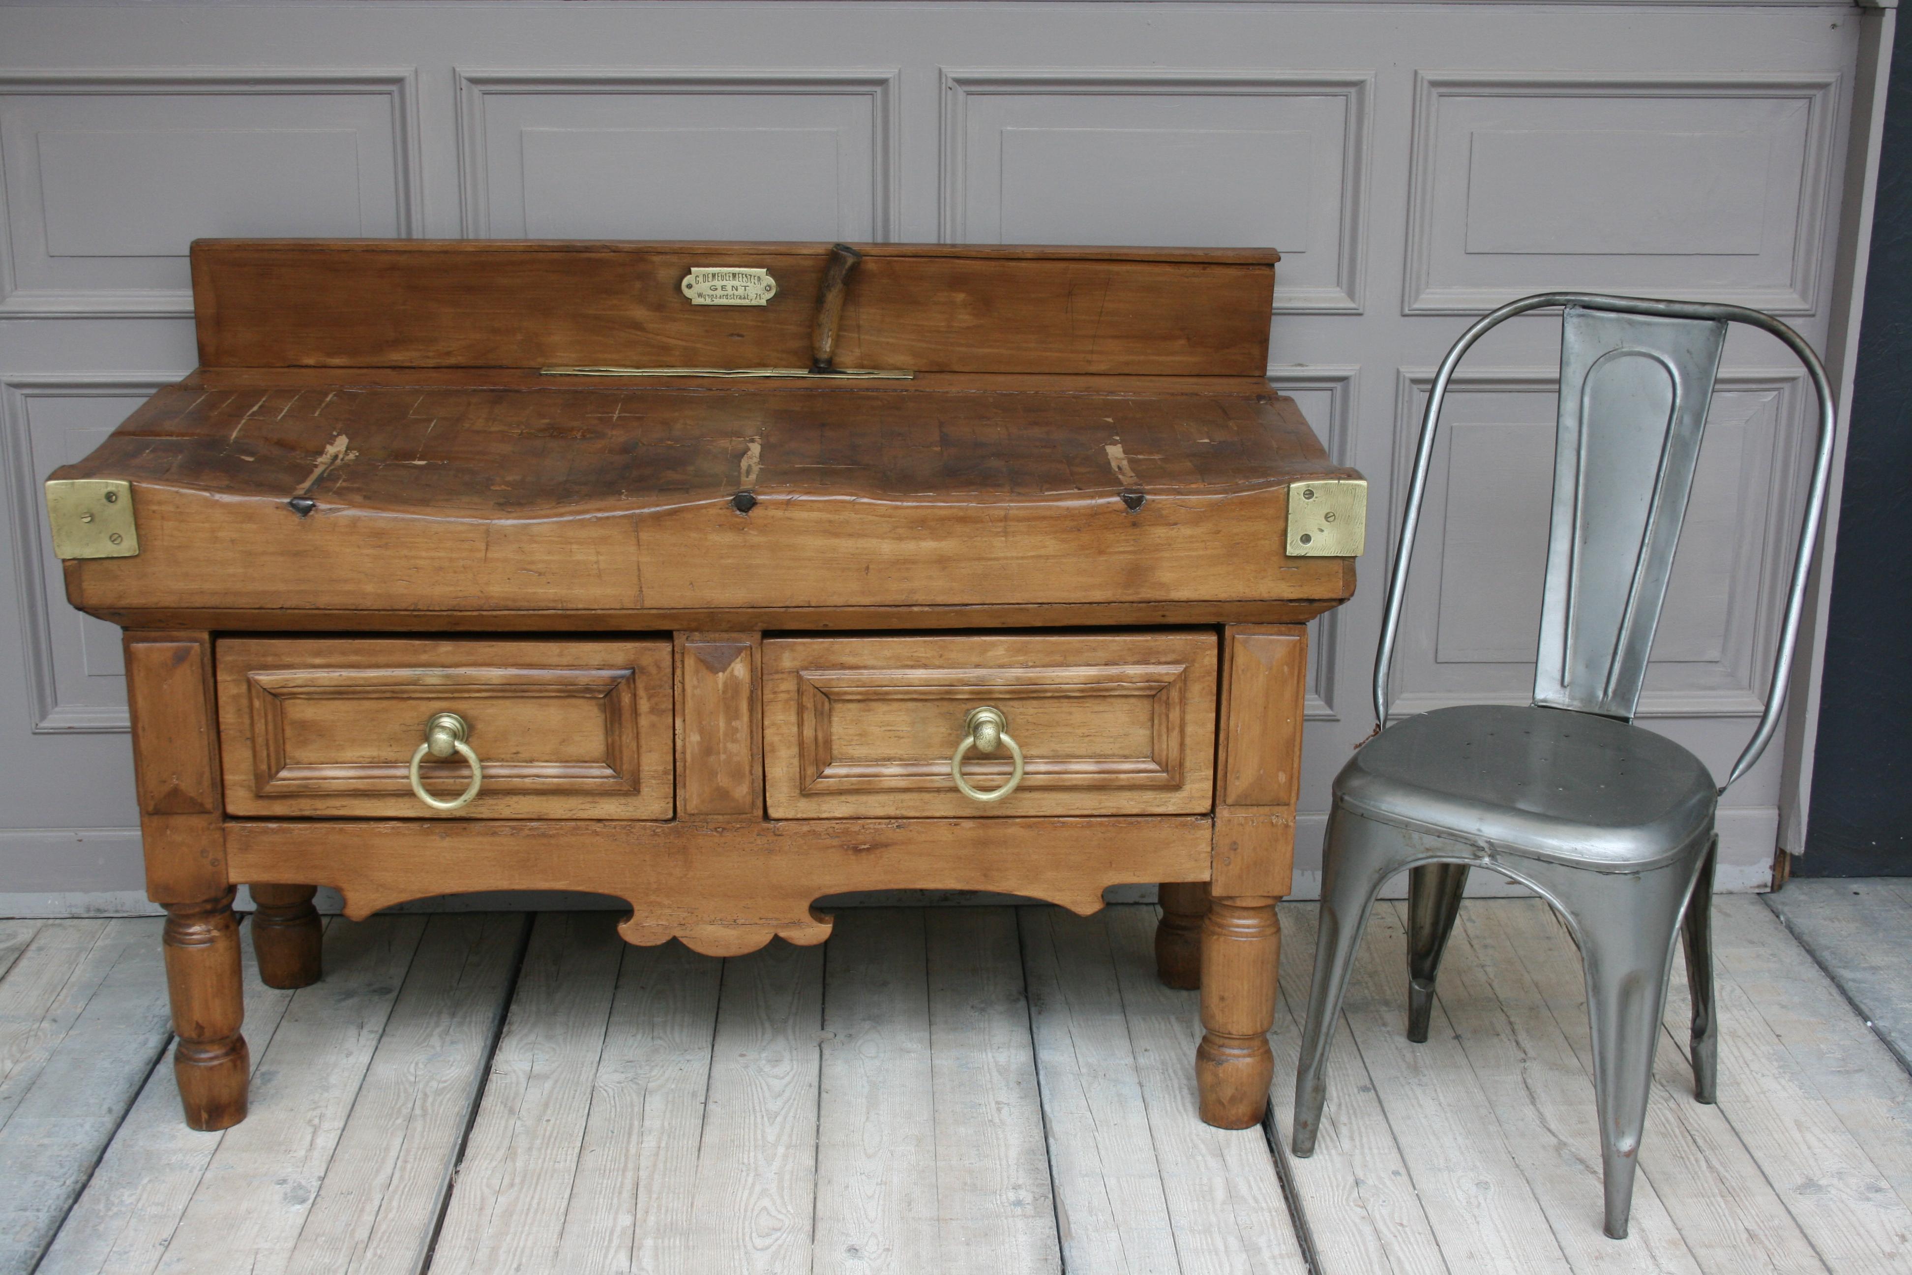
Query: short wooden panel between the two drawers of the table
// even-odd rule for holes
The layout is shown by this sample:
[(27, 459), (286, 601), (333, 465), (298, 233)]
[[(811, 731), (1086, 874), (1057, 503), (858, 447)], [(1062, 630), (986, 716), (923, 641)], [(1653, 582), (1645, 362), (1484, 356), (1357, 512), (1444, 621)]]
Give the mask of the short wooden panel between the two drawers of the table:
[(686, 633), (677, 658), (677, 809), (763, 812), (755, 633)]

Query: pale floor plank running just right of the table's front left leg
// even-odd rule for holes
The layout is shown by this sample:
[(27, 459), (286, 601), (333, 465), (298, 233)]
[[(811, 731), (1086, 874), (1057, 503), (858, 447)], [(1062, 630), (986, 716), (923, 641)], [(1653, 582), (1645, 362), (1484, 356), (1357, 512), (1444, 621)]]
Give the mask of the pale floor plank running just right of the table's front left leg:
[(423, 916), (325, 931), (325, 977), (285, 1007), (252, 1076), (249, 1114), (212, 1153), (163, 1275), (285, 1269), (423, 933)]

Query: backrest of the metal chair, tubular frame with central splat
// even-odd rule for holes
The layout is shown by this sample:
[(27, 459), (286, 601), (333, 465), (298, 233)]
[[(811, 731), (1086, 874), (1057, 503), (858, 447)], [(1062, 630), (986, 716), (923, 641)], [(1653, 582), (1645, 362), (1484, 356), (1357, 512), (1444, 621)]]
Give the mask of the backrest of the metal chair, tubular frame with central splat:
[(1759, 759), (1778, 724), (1834, 440), (1832, 388), (1811, 346), (1778, 319), (1742, 306), (1543, 292), (1495, 310), (1455, 342), (1434, 375), (1421, 422), (1375, 658), (1375, 717), (1380, 724), (1388, 721), (1388, 665), (1447, 384), (1482, 335), (1505, 319), (1543, 308), (1562, 308), (1564, 315), (1553, 526), (1533, 703), (1633, 717), (1686, 516), (1727, 325), (1748, 323), (1772, 333), (1813, 377), (1820, 438), (1772, 686), (1751, 742), (1721, 784), (1725, 791)]

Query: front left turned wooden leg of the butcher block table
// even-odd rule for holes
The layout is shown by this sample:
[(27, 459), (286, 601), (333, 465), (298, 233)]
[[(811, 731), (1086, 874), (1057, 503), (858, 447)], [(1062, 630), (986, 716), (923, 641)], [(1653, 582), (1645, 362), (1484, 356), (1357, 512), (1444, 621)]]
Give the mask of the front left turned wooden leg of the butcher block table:
[(224, 1130), (245, 1120), (252, 1070), (239, 986), (239, 923), (233, 891), (210, 902), (166, 904), (166, 992), (172, 996), (172, 1072), (180, 1082), (185, 1122)]

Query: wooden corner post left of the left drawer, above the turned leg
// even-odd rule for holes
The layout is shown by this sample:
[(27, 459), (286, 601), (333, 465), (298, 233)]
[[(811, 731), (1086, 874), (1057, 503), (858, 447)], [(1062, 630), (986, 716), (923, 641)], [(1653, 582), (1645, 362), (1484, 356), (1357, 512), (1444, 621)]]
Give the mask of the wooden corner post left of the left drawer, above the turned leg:
[(212, 638), (126, 633), (126, 703), (155, 902), (206, 902), (228, 885), (212, 700)]

